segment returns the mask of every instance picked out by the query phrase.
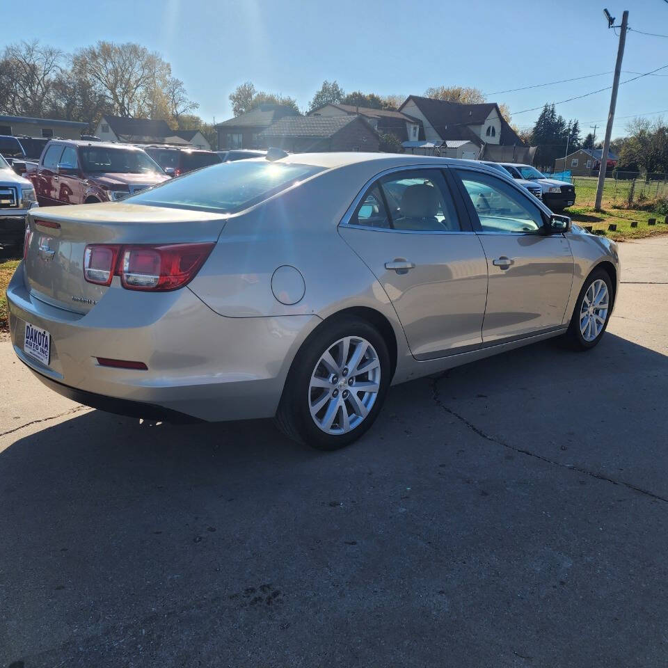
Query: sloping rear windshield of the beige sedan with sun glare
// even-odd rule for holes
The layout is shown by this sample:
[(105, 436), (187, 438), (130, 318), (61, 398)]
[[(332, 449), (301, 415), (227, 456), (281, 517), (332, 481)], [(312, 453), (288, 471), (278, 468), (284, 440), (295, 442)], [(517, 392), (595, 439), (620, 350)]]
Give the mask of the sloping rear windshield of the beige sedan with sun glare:
[(266, 161), (224, 162), (125, 198), (132, 204), (232, 213), (247, 209), (324, 168)]

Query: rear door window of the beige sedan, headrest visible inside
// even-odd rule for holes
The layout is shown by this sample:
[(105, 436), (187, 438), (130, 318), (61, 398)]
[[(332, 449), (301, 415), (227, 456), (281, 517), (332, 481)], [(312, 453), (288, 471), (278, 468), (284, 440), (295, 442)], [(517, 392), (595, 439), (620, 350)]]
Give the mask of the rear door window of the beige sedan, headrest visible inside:
[(461, 230), (445, 178), (432, 169), (381, 178), (367, 191), (350, 224), (406, 232)]

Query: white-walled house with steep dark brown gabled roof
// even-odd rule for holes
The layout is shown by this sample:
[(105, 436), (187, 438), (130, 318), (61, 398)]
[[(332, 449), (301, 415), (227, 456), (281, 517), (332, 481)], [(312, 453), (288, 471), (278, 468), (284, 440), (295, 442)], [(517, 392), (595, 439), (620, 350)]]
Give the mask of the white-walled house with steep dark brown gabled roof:
[(498, 104), (459, 104), (409, 95), (399, 111), (422, 121), (424, 139), (433, 143), (470, 141), (485, 144), (523, 146), (523, 141), (502, 117)]

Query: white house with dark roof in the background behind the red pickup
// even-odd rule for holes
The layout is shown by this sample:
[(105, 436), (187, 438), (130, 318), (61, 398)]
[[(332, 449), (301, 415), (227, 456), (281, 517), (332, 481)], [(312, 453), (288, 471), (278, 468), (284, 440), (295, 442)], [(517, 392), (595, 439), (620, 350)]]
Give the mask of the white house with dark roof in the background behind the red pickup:
[(97, 124), (95, 136), (102, 141), (190, 145), (211, 150), (211, 145), (199, 130), (173, 130), (166, 120), (151, 118), (123, 118), (105, 114)]

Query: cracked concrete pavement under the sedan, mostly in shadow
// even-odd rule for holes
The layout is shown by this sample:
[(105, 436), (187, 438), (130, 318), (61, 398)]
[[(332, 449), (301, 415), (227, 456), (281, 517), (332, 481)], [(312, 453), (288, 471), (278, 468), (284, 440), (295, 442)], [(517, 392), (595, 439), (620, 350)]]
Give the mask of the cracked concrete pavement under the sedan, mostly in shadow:
[(139, 424), (0, 344), (0, 666), (663, 666), (668, 238), (608, 333), (393, 388), (331, 454)]

